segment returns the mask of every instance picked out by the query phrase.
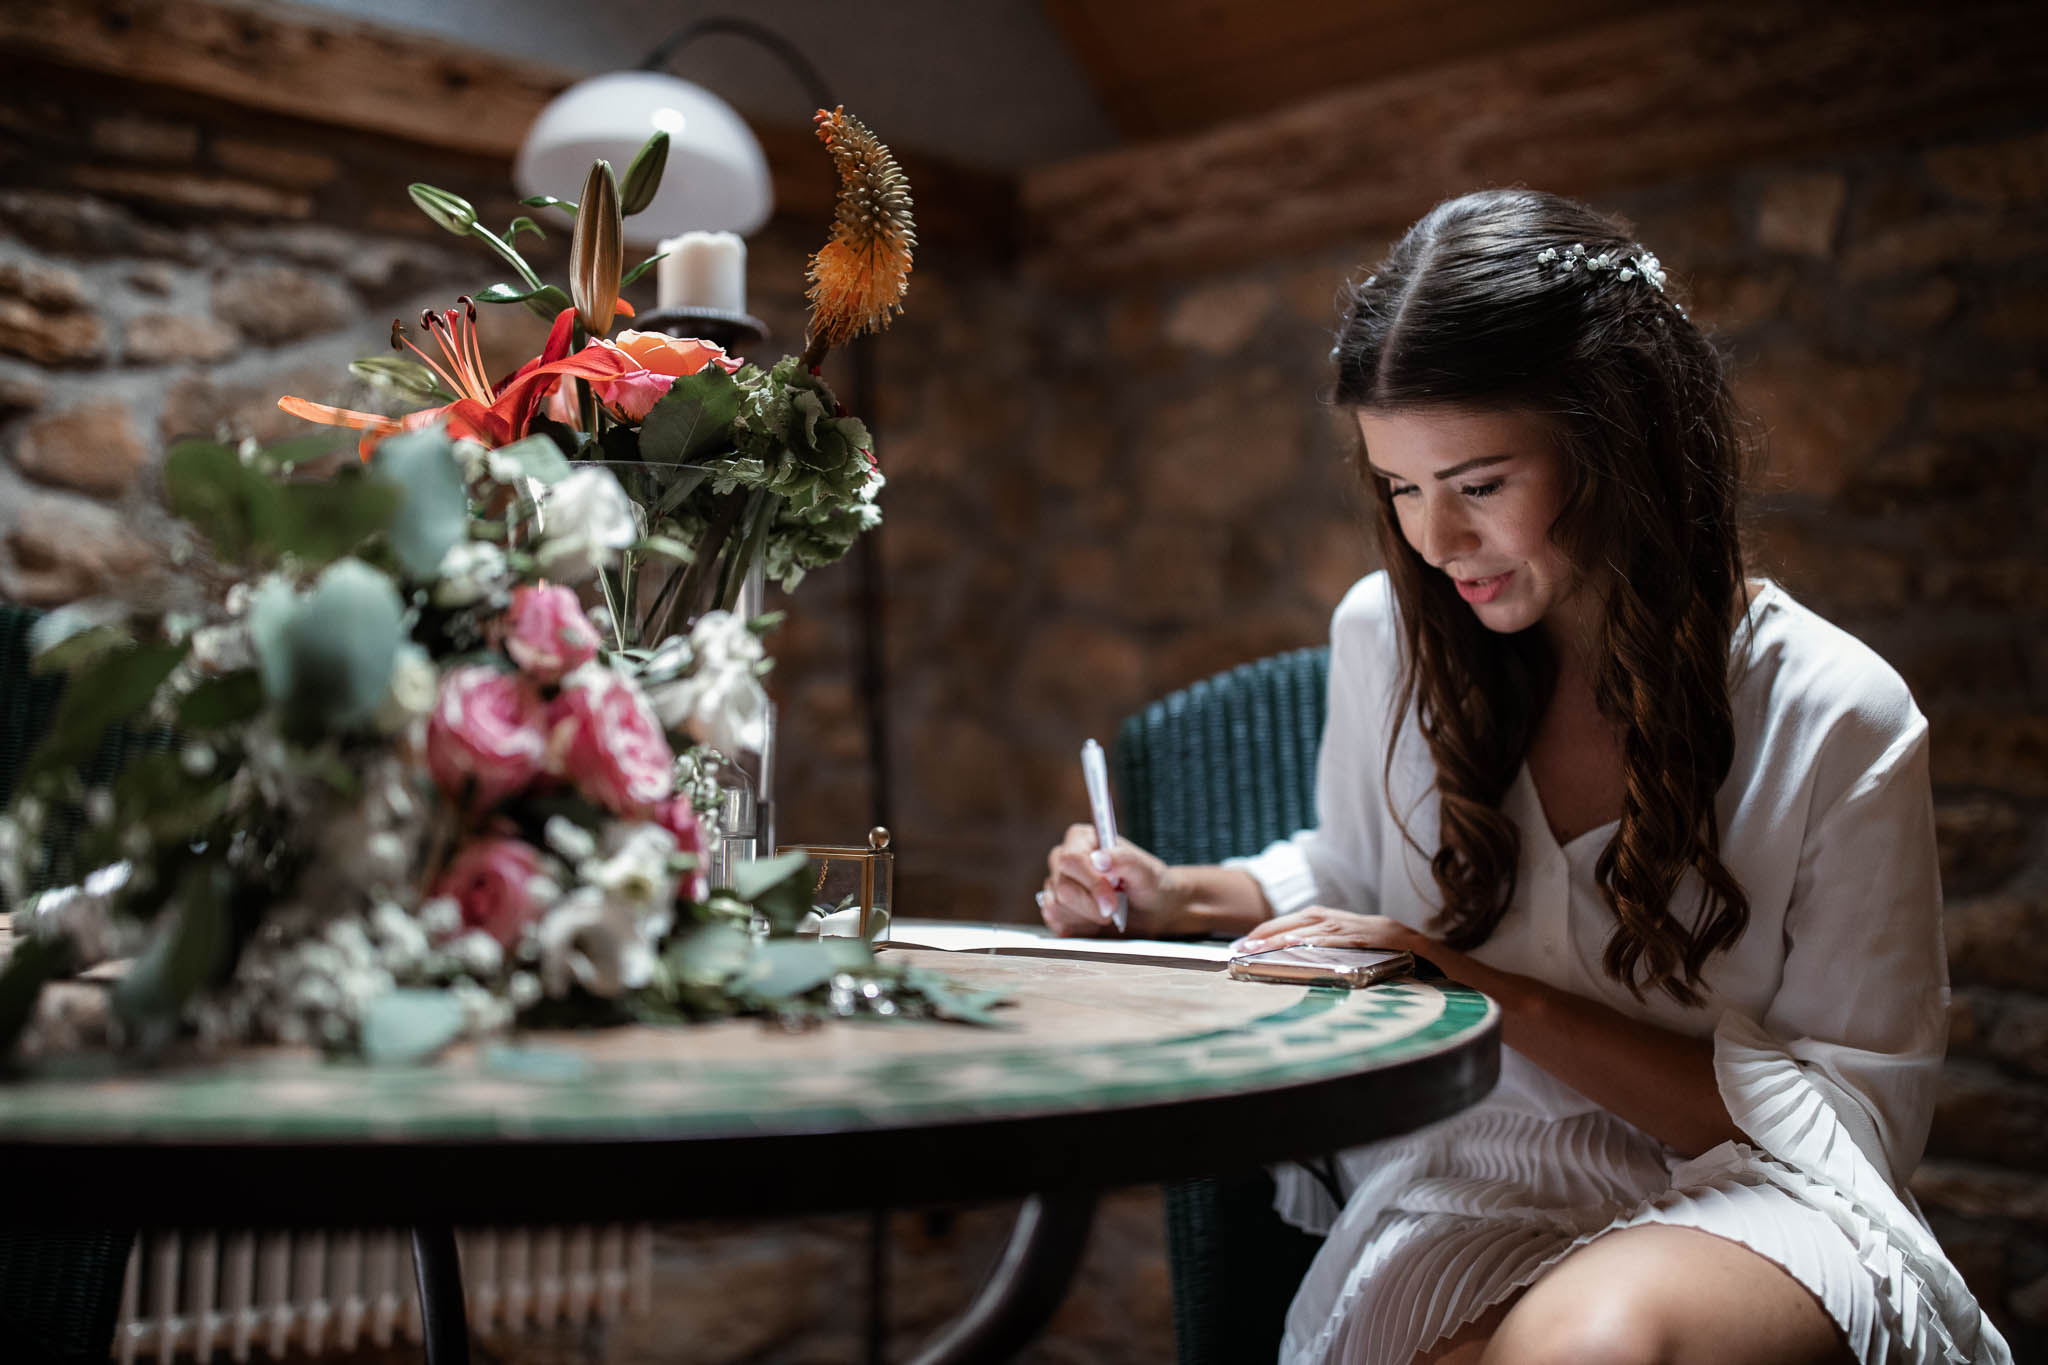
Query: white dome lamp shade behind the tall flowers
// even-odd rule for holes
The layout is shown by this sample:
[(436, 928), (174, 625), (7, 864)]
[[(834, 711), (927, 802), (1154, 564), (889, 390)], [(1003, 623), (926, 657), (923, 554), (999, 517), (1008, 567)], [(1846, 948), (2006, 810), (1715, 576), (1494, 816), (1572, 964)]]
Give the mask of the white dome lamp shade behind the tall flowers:
[(768, 158), (745, 121), (702, 86), (662, 72), (592, 76), (557, 94), (526, 131), (512, 180), (522, 194), (573, 201), (592, 162), (606, 160), (625, 176), (655, 131), (668, 133), (668, 170), (653, 203), (627, 219), (631, 241), (684, 231), (745, 235), (768, 221)]

